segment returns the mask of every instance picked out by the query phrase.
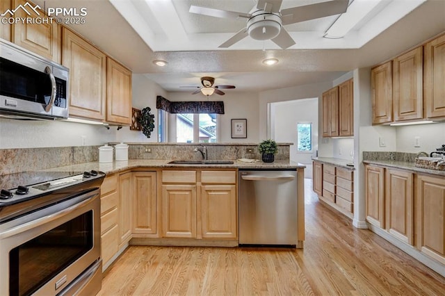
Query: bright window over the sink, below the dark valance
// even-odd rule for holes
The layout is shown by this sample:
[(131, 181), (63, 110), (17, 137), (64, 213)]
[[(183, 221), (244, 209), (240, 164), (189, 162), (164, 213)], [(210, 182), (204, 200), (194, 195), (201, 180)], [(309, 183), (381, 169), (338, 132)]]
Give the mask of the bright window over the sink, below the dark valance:
[(176, 142), (217, 142), (218, 115), (179, 113), (176, 118)]

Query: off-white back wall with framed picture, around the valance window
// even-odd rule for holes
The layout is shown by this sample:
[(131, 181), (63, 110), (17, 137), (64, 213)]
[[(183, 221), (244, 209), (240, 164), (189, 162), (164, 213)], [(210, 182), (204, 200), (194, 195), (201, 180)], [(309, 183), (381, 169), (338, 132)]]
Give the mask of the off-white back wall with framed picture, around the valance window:
[[(165, 99), (170, 101), (204, 101), (207, 100), (202, 94), (191, 94), (188, 92), (168, 92)], [(230, 93), (230, 90), (225, 91), (224, 96), (213, 94), (209, 100), (223, 101), (225, 114), (219, 115), (218, 126), (218, 142), (242, 143), (242, 142), (259, 142), (259, 104), (257, 92), (236, 92)], [(170, 116), (171, 118), (172, 116)], [(231, 137), (231, 120), (232, 119), (247, 119), (248, 121), (248, 138), (234, 138)], [(175, 129), (175, 120), (170, 120), (170, 130)], [(174, 131), (169, 135), (172, 140)]]

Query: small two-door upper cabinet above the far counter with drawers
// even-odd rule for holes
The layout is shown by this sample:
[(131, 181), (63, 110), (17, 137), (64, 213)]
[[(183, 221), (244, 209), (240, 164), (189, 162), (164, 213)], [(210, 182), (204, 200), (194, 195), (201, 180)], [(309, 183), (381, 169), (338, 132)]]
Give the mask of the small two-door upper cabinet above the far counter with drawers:
[(323, 92), (323, 137), (354, 135), (353, 79)]

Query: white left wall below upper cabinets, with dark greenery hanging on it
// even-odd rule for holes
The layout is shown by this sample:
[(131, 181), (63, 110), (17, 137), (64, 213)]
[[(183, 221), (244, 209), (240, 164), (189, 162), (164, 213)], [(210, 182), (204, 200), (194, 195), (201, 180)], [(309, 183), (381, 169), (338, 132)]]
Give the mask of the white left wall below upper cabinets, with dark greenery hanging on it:
[(6, 120), (0, 119), (0, 149), (103, 145), (106, 142), (156, 142), (157, 109), (156, 95), (165, 97), (165, 90), (142, 74), (133, 74), (133, 107), (152, 108), (156, 127), (151, 138), (140, 131), (124, 127), (117, 131), (103, 126), (63, 121)]

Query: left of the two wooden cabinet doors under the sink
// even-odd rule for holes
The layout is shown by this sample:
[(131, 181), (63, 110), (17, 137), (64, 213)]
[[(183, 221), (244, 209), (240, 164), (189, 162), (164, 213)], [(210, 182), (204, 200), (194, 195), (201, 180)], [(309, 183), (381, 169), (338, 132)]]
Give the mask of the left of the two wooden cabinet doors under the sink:
[(162, 234), (166, 238), (196, 238), (196, 186), (162, 186)]

